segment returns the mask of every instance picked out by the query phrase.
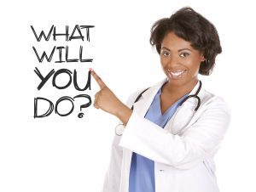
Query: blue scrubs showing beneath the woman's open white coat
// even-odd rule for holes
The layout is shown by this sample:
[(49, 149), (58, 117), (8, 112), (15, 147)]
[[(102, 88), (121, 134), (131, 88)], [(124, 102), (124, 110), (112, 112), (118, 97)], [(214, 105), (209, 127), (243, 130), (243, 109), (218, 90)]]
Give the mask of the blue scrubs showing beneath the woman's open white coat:
[[(160, 109), (160, 94), (161, 88), (154, 96), (154, 100), (148, 112), (145, 116), (149, 121), (154, 122), (160, 127), (165, 127), (167, 121), (173, 116), (177, 110), (178, 104), (185, 98), (187, 95), (184, 95), (179, 99), (175, 104), (166, 110), (164, 114), (161, 113)], [(146, 133), (145, 133), (146, 134)], [(131, 169), (130, 169), (130, 178), (129, 178), (129, 192), (154, 192), (154, 161), (139, 155), (137, 153), (132, 153), (131, 158)]]

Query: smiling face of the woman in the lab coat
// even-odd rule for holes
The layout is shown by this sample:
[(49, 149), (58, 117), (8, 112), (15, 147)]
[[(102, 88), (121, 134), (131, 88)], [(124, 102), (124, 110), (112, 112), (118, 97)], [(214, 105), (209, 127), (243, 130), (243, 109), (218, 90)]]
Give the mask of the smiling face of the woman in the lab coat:
[(195, 85), (201, 61), (204, 61), (203, 55), (192, 48), (190, 42), (177, 37), (174, 32), (166, 34), (161, 43), (160, 63), (168, 83)]

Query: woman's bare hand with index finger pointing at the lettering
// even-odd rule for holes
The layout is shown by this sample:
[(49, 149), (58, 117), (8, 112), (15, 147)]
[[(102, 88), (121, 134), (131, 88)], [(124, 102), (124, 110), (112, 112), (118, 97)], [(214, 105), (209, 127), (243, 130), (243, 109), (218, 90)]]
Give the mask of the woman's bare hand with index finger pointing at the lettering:
[(96, 109), (102, 109), (113, 116), (117, 116), (121, 121), (126, 123), (131, 116), (131, 109), (115, 96), (95, 71), (90, 69), (90, 74), (101, 88), (101, 90), (95, 94), (94, 107)]

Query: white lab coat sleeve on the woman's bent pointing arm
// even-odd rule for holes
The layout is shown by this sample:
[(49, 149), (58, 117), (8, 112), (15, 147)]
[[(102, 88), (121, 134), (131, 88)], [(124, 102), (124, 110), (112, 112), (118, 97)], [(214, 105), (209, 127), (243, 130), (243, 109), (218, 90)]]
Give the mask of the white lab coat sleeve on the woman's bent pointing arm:
[(204, 107), (201, 116), (181, 135), (133, 112), (119, 145), (172, 167), (195, 167), (215, 155), (230, 122), (230, 110), (223, 99), (216, 97)]

